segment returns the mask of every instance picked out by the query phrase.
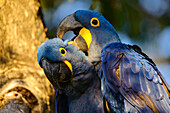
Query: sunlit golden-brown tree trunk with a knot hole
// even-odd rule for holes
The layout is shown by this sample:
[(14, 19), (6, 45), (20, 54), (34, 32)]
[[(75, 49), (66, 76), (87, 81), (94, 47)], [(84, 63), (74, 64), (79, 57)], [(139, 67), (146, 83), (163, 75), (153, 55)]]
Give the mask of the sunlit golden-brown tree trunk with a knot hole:
[(37, 62), (45, 30), (37, 0), (0, 0), (0, 113), (54, 113), (54, 90)]

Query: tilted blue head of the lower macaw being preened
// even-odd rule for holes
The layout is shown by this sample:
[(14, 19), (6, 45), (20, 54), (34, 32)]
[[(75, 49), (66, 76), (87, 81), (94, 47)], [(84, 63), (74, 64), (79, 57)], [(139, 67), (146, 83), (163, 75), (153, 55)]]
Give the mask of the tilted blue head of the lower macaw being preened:
[(37, 59), (52, 85), (66, 93), (74, 94), (71, 92), (73, 88), (84, 90), (88, 86), (84, 84), (89, 84), (93, 77), (87, 74), (94, 70), (87, 56), (76, 46), (68, 45), (59, 38), (42, 43)]

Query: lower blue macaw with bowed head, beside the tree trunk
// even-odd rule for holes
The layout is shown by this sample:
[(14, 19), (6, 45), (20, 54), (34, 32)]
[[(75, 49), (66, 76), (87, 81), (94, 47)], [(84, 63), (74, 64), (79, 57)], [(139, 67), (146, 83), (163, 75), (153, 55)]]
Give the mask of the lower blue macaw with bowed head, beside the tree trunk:
[(39, 46), (37, 58), (56, 90), (57, 113), (104, 113), (100, 79), (76, 46), (50, 39)]

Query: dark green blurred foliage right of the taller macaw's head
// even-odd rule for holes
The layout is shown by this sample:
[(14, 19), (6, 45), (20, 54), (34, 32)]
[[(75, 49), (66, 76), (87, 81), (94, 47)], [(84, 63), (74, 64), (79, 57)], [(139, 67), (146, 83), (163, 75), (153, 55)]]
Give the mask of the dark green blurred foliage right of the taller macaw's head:
[(149, 15), (138, 0), (101, 0), (100, 12), (118, 31), (124, 31), (129, 37), (136, 39), (145, 38), (146, 31), (157, 22), (161, 29), (170, 25), (168, 13), (160, 18)]

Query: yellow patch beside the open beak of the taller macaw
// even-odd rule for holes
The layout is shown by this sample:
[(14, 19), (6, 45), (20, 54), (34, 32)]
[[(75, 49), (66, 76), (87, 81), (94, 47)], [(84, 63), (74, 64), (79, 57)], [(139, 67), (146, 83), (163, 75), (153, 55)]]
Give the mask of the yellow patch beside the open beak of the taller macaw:
[(87, 47), (89, 48), (92, 42), (92, 36), (91, 36), (90, 31), (86, 29), (85, 27), (83, 27), (80, 30), (79, 35), (81, 35), (84, 38), (84, 40), (86, 41)]

